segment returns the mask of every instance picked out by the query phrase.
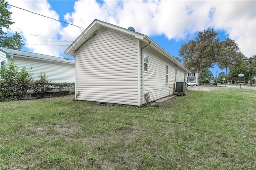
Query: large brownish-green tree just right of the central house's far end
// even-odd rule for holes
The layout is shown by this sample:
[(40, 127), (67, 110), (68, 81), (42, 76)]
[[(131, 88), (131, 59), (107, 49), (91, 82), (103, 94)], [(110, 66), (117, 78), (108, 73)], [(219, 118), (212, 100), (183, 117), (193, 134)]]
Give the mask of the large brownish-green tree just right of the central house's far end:
[(220, 39), (213, 28), (198, 32), (195, 40), (182, 44), (179, 55), (183, 58), (183, 65), (198, 72), (200, 79), (204, 70), (214, 66), (219, 56)]

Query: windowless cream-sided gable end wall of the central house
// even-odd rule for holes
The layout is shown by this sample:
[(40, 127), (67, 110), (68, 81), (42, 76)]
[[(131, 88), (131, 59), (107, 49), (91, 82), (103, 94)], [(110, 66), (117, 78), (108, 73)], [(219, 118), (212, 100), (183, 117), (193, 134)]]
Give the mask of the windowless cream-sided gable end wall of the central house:
[(137, 39), (100, 28), (76, 52), (77, 100), (138, 105)]

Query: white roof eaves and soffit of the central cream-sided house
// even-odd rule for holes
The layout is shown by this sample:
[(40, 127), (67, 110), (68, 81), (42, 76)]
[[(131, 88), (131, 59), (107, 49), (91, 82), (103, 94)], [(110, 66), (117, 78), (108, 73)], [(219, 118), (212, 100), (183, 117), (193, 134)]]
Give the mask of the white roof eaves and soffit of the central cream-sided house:
[(90, 40), (90, 38), (93, 38), (96, 34), (98, 34), (98, 30), (101, 27), (105, 27), (108, 28), (110, 30), (115, 30), (117, 32), (122, 32), (123, 34), (127, 34), (129, 36), (132, 36), (134, 38), (138, 38), (144, 42), (151, 42), (152, 46), (154, 48), (156, 48), (158, 51), (160, 51), (161, 53), (163, 53), (166, 57), (168, 57), (169, 59), (171, 59), (174, 63), (176, 63), (176, 65), (179, 65), (180, 67), (182, 67), (184, 70), (186, 70), (187, 72), (190, 72), (188, 69), (186, 69), (182, 64), (180, 64), (176, 59), (174, 59), (174, 57), (172, 57), (172, 55), (170, 55), (167, 51), (165, 51), (162, 47), (160, 47), (157, 43), (155, 43), (153, 40), (151, 40), (148, 36), (144, 35), (144, 34), (140, 34), (138, 32), (134, 32), (131, 30), (128, 30), (126, 28), (122, 28), (119, 26), (115, 26), (113, 24), (109, 24), (107, 22), (103, 22), (100, 20), (94, 20), (92, 22), (92, 24), (90, 24), (90, 26), (88, 26), (86, 28), (86, 30), (84, 30), (84, 32), (82, 32), (82, 34), (80, 34), (80, 36), (78, 36), (78, 38), (76, 38), (76, 40), (66, 49), (66, 51), (64, 52), (67, 55), (75, 55), (76, 51), (84, 44), (86, 43), (88, 40)]

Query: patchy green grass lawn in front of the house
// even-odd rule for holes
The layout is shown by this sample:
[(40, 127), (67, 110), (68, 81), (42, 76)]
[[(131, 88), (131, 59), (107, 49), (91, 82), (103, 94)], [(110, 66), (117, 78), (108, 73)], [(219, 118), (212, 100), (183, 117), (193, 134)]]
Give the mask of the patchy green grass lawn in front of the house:
[(144, 108), (73, 98), (0, 103), (0, 169), (256, 169), (256, 91)]

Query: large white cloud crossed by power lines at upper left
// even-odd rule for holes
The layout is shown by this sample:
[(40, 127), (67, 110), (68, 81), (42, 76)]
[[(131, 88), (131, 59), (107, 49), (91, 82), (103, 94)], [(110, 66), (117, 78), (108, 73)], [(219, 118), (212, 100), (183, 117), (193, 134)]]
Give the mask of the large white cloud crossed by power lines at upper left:
[[(37, 1), (22, 1), (16, 3), (16, 0), (9, 0), (9, 4), (59, 19), (58, 14), (50, 9), (50, 4), (46, 0), (37, 0)], [(43, 53), (46, 55), (60, 56), (60, 51), (58, 51), (58, 46), (53, 46), (57, 41), (50, 38), (58, 38), (58, 32), (60, 31), (60, 22), (32, 14), (25, 10), (21, 10), (15, 7), (11, 7), (10, 11), (12, 12), (12, 21), (15, 23), (10, 26), (11, 30), (23, 32), (22, 36), (24, 37), (24, 43), (27, 43), (25, 46), (30, 49), (30, 51), (35, 53)], [(39, 35), (39, 36), (33, 36)], [(40, 37), (42, 36), (42, 37)], [(48, 45), (34, 45), (34, 44), (48, 44)]]

